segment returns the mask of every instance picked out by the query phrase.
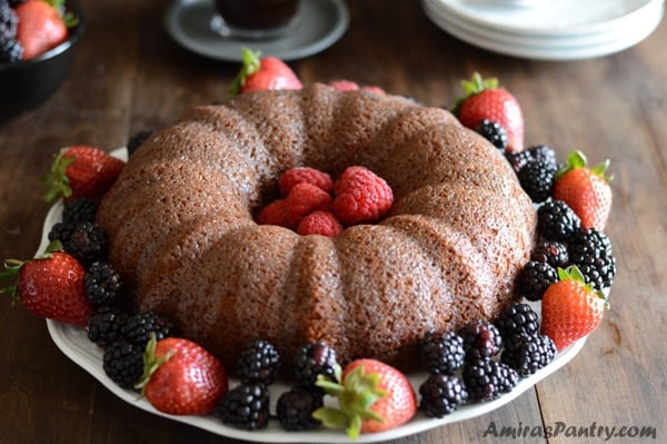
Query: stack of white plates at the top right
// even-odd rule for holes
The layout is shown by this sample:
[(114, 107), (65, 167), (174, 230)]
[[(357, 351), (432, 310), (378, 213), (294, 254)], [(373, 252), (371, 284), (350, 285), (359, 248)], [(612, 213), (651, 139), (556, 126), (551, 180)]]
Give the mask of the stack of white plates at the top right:
[(637, 45), (665, 0), (422, 0), (438, 27), (470, 45), (539, 60), (607, 56)]

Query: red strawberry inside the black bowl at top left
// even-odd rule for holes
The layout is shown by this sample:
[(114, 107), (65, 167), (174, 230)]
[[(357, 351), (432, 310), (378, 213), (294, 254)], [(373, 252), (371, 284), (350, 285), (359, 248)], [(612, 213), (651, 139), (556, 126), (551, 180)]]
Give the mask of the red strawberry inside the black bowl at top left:
[(19, 24), (17, 40), (23, 46), (23, 60), (32, 59), (68, 38), (66, 22), (58, 7), (62, 1), (29, 0), (14, 8)]

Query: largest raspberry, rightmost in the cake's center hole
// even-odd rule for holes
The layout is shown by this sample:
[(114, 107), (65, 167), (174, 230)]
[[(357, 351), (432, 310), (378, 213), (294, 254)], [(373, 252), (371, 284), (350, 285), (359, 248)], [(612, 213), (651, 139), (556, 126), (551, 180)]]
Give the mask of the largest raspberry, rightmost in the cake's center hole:
[(394, 193), (381, 177), (365, 167), (349, 167), (334, 184), (334, 209), (345, 225), (374, 223), (394, 204)]

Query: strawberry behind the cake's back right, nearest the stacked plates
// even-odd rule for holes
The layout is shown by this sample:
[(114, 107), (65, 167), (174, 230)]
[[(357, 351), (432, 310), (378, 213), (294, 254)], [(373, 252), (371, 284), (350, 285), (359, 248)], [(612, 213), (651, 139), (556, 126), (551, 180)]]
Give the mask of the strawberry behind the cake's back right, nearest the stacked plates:
[(479, 72), (471, 80), (461, 81), (466, 93), (457, 101), (452, 112), (470, 129), (485, 119), (500, 125), (507, 132), (507, 151), (524, 149), (524, 114), (517, 99), (498, 87), (498, 79), (482, 79)]

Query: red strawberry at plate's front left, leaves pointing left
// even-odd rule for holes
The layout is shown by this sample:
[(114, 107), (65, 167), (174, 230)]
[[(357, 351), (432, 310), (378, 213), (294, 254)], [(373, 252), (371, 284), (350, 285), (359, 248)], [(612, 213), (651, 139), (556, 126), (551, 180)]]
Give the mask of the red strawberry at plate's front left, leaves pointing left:
[(153, 334), (143, 355), (145, 372), (136, 388), (160, 412), (205, 415), (227, 393), (225, 367), (200, 345), (183, 338), (158, 341)]

